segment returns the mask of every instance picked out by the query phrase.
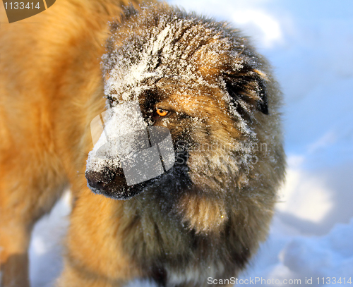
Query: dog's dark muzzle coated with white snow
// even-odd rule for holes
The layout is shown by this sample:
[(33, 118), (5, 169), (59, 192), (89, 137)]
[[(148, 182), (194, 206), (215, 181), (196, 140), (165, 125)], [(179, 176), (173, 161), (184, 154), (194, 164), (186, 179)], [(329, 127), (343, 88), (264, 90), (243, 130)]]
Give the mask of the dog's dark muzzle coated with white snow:
[(114, 106), (109, 114), (107, 125), (100, 116), (103, 130), (88, 156), (85, 176), (93, 192), (126, 199), (172, 168), (174, 146), (167, 128), (147, 126), (138, 102)]

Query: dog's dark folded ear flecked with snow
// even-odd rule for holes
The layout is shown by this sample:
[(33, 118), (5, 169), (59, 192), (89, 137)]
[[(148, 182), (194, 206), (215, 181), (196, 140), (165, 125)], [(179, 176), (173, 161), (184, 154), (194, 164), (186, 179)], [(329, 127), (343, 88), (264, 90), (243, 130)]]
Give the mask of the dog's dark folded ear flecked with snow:
[(266, 90), (268, 78), (265, 73), (243, 62), (227, 68), (223, 78), (227, 92), (234, 100), (239, 114), (246, 113), (249, 116), (252, 109), (268, 114)]

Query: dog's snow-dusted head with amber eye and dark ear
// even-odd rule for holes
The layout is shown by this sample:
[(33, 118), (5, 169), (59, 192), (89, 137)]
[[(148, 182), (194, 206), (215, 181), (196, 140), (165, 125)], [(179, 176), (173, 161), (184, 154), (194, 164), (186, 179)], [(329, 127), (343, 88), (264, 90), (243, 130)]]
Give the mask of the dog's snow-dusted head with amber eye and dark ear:
[[(103, 57), (106, 129), (113, 127), (114, 138), (128, 135), (131, 141), (136, 126), (167, 128), (175, 164), (160, 176), (128, 185), (116, 154), (97, 156), (98, 141), (88, 158), (88, 186), (128, 199), (146, 188), (222, 193), (246, 182), (251, 169), (246, 145), (256, 141), (254, 118), (268, 114), (261, 60), (222, 23), (167, 10), (129, 17), (124, 25), (112, 25)], [(142, 115), (129, 111), (128, 102), (138, 102)]]

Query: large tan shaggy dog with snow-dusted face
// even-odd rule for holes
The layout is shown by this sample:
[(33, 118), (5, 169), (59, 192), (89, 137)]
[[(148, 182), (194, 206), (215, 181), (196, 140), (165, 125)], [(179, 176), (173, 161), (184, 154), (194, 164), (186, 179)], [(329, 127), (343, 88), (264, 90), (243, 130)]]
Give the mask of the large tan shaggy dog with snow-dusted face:
[(226, 23), (121, 4), (1, 27), (2, 286), (28, 286), (30, 231), (67, 186), (58, 287), (231, 286), (267, 236), (285, 177), (270, 65)]

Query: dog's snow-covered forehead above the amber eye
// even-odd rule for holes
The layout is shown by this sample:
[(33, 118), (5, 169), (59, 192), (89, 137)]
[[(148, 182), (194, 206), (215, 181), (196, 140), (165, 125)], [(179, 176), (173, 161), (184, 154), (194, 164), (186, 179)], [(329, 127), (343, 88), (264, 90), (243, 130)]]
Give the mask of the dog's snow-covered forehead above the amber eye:
[(206, 78), (216, 73), (230, 47), (221, 34), (205, 23), (179, 19), (132, 35), (103, 57), (104, 94), (124, 102), (137, 100), (161, 79), (177, 81), (179, 89), (214, 85)]

